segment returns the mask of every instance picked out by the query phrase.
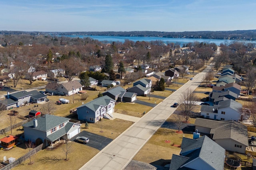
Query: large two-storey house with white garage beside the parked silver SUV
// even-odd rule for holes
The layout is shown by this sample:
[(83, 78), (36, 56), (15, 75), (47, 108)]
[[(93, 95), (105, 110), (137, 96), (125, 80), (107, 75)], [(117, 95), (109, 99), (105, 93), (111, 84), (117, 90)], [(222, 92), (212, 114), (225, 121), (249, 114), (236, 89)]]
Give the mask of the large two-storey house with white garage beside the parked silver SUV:
[(80, 133), (81, 124), (70, 122), (69, 118), (55, 115), (42, 115), (22, 125), (25, 141), (52, 145), (60, 138), (71, 139)]

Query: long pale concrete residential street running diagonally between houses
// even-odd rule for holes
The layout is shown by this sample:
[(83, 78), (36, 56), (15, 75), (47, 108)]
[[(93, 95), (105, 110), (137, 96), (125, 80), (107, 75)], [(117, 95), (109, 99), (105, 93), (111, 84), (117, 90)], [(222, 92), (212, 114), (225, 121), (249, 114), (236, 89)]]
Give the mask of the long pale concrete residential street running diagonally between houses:
[(94, 158), (88, 161), (81, 170), (123, 170), (137, 152), (162, 126), (166, 119), (176, 110), (172, 106), (178, 101), (182, 92), (187, 89), (195, 90), (203, 75), (212, 69), (213, 65), (194, 76), (194, 80), (188, 81), (178, 90), (173, 92), (163, 102), (151, 109), (146, 115), (140, 118), (131, 127), (126, 129), (120, 136), (112, 141), (107, 147), (101, 150)]

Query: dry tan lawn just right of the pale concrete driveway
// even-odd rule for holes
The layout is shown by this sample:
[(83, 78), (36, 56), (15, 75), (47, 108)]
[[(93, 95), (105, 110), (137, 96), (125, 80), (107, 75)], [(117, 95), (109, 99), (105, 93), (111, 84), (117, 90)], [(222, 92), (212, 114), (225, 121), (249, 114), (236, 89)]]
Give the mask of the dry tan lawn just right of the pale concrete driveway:
[(130, 116), (142, 117), (142, 113), (150, 111), (152, 107), (136, 103), (119, 103), (115, 106), (116, 113), (122, 113)]

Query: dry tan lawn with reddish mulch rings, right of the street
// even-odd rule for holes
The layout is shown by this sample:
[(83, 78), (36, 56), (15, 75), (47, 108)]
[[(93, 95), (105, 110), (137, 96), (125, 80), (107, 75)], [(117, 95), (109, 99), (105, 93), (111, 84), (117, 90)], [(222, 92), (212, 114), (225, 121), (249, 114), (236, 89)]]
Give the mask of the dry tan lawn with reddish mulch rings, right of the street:
[[(158, 131), (148, 140), (148, 142), (134, 156), (134, 160), (165, 166), (170, 164), (172, 154), (179, 154), (182, 137), (192, 138), (192, 134), (175, 133), (174, 129), (159, 128)], [(167, 141), (168, 140), (168, 141)]]

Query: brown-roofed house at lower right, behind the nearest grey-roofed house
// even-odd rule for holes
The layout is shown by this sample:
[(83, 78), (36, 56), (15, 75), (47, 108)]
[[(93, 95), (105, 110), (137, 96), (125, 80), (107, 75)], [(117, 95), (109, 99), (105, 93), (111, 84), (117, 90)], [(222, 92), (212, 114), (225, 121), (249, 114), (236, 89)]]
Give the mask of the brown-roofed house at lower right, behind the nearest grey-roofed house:
[(196, 118), (195, 126), (198, 132), (210, 134), (224, 149), (245, 154), (248, 147), (248, 131), (245, 125), (233, 120), (214, 121)]

